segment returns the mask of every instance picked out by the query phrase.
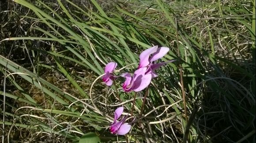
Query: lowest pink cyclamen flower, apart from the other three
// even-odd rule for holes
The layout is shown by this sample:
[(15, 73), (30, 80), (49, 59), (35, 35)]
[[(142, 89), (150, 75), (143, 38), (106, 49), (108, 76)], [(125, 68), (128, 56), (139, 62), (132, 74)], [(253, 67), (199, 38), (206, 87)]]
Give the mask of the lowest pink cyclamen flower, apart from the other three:
[(121, 121), (117, 121), (117, 119), (122, 115), (123, 110), (124, 107), (119, 107), (115, 110), (114, 122), (110, 125), (109, 129), (112, 134), (125, 135), (132, 127), (131, 125), (124, 124), (126, 117), (124, 117)]

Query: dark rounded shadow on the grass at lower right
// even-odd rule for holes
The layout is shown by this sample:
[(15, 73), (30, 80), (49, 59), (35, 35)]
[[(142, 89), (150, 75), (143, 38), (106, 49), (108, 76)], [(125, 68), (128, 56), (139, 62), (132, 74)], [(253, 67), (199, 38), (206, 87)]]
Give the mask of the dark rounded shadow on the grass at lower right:
[[(239, 66), (255, 76), (255, 62)], [(226, 77), (206, 83), (209, 88), (194, 120), (199, 138), (212, 143), (255, 143), (255, 77), (228, 65), (224, 71)]]

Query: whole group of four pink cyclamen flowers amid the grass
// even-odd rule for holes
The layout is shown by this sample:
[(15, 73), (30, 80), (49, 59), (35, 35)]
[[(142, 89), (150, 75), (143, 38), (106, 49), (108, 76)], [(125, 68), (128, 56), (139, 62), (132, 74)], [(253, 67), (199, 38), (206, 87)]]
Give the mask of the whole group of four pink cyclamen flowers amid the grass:
[[(154, 46), (143, 51), (139, 55), (139, 67), (133, 74), (123, 73), (120, 76), (114, 76), (112, 73), (117, 67), (117, 63), (109, 62), (105, 66), (105, 75), (102, 77), (102, 80), (105, 82), (106, 85), (111, 86), (113, 84), (113, 80), (115, 80), (117, 77), (124, 77), (126, 79), (122, 85), (124, 91), (139, 92), (150, 84), (152, 78), (158, 76), (154, 72), (154, 70), (157, 70), (160, 66), (163, 66), (166, 63), (174, 61), (174, 60), (171, 60), (168, 62), (153, 63), (154, 61), (166, 55), (168, 51), (169, 51), (169, 48), (167, 47), (158, 48), (158, 46)], [(123, 110), (124, 110), (124, 107), (119, 107), (117, 108), (117, 110), (115, 110), (114, 121), (110, 125), (110, 132), (112, 134), (125, 135), (131, 129), (131, 125), (129, 125), (128, 123), (125, 123), (127, 116), (123, 117), (121, 121), (117, 121), (117, 119), (123, 113)]]

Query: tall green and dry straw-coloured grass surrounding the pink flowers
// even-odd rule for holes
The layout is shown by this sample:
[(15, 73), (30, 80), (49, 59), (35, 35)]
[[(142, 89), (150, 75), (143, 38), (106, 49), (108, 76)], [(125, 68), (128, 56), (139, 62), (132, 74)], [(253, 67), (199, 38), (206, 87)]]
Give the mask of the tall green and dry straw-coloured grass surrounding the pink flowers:
[[(15, 14), (2, 14), (19, 15), (21, 31), (0, 41), (4, 142), (255, 142), (255, 0), (10, 5)], [(130, 115), (135, 93), (105, 87), (104, 66), (132, 72), (153, 45), (177, 62), (137, 94), (128, 135), (110, 134), (114, 110)]]

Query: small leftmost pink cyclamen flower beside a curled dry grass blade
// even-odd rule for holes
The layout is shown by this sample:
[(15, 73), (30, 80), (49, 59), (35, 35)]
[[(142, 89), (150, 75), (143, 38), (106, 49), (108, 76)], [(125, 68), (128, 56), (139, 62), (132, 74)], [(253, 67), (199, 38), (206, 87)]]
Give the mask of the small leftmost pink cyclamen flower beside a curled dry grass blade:
[(102, 81), (104, 81), (105, 84), (108, 86), (111, 86), (113, 84), (113, 80), (115, 79), (115, 77), (111, 75), (111, 73), (115, 70), (116, 67), (117, 67), (116, 62), (109, 62), (105, 66), (105, 71), (104, 71), (105, 75), (102, 77)]

